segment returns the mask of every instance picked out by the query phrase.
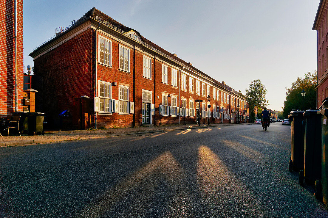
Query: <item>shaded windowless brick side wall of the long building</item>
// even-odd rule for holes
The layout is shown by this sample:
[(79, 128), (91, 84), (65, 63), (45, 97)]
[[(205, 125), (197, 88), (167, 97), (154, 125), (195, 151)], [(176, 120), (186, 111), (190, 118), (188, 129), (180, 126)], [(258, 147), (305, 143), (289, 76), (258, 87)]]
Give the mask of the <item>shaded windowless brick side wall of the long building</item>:
[[(59, 126), (62, 111), (73, 113), (74, 97), (93, 96), (91, 45), (88, 29), (34, 60), (34, 74), (43, 78), (42, 112), (49, 116), (50, 125)], [(71, 120), (64, 118), (64, 128), (70, 128)]]

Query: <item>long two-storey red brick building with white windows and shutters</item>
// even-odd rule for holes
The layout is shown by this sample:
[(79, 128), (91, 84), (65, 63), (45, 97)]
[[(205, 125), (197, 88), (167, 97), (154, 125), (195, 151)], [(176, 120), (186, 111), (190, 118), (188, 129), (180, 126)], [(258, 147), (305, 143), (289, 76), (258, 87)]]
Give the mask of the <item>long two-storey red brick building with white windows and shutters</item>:
[(64, 110), (74, 129), (195, 123), (198, 113), (202, 123), (248, 121), (233, 88), (95, 8), (60, 30), (30, 54), (54, 125)]

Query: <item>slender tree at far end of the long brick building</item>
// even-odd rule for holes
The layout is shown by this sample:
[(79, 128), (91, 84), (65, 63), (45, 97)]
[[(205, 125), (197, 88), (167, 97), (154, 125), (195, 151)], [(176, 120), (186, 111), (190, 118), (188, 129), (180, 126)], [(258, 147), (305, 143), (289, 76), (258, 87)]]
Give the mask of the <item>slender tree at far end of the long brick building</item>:
[(248, 101), (249, 101), (249, 111), (251, 114), (251, 116), (250, 116), (251, 122), (254, 122), (254, 120), (255, 120), (255, 114), (253, 112), (255, 106), (256, 107), (268, 106), (268, 100), (266, 100), (266, 94), (267, 94), (267, 89), (262, 84), (262, 82), (258, 79), (253, 80), (249, 84), (249, 89), (246, 89), (246, 97), (248, 98)]

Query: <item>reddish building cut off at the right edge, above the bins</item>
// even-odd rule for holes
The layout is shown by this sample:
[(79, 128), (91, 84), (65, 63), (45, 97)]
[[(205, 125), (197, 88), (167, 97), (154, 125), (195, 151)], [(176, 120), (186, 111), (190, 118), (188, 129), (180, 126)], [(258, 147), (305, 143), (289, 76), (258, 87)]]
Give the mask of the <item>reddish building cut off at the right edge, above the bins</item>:
[(328, 1), (321, 0), (313, 24), (313, 30), (318, 31), (318, 63), (317, 63), (317, 108), (323, 99), (328, 97)]

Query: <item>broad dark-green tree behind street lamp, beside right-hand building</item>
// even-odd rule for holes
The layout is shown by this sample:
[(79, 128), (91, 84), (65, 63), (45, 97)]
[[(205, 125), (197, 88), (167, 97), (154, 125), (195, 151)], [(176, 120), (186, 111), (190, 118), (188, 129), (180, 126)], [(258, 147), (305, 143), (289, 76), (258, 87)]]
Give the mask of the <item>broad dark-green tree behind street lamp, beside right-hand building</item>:
[(291, 88), (286, 88), (286, 100), (284, 102), (283, 116), (288, 117), (288, 114), (292, 109), (303, 109), (303, 96), (301, 91), (304, 89), (306, 94), (304, 96), (304, 109), (317, 108), (317, 71), (307, 72), (304, 74), (304, 78), (298, 77), (295, 82), (292, 83)]

